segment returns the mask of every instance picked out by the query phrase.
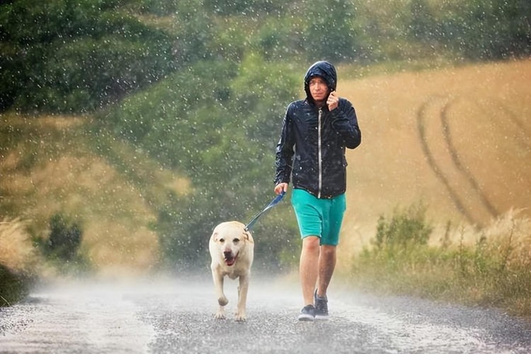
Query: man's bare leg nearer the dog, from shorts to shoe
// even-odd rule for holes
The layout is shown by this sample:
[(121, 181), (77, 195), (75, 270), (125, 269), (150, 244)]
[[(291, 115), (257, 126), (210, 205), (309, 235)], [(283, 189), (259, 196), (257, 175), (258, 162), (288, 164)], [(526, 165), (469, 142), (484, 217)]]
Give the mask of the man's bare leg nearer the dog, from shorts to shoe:
[(319, 241), (317, 236), (307, 236), (302, 239), (299, 277), (304, 306), (314, 304), (314, 290), (319, 275)]

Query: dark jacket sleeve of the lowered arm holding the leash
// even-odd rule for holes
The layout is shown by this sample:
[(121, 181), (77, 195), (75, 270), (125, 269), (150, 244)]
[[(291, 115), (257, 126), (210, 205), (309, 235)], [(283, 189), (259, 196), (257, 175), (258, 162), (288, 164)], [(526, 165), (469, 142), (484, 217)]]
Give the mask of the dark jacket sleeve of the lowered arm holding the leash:
[(295, 139), (293, 137), (293, 120), (290, 114), (292, 106), (288, 106), (284, 120), (282, 122), (282, 131), (277, 144), (275, 156), (275, 185), (278, 183), (290, 183), (290, 176), (293, 163), (293, 154)]

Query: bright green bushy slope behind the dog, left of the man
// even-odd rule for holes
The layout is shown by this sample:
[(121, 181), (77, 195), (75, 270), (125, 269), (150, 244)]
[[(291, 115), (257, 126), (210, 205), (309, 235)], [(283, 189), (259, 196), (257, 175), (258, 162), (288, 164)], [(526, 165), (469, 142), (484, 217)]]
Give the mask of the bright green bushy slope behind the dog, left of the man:
[[(215, 225), (246, 222), (273, 195), (274, 147), (285, 106), (295, 98), (289, 67), (249, 55), (240, 67), (202, 61), (101, 118), (103, 127), (187, 175), (193, 190), (156, 206), (153, 229), (170, 262), (205, 261)], [(301, 74), (302, 75), (302, 74)], [(296, 237), (277, 230), (265, 239)], [(275, 262), (282, 247), (267, 253)]]

